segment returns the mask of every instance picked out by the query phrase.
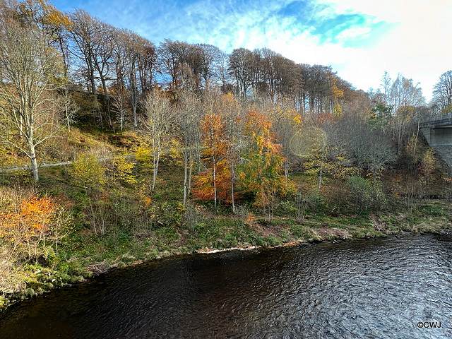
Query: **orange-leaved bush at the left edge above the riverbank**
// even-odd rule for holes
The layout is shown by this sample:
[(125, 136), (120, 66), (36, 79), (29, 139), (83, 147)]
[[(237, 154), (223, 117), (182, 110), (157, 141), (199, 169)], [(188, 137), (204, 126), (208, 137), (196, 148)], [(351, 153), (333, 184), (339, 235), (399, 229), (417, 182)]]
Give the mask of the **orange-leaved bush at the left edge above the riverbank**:
[[(71, 215), (64, 206), (32, 191), (0, 189), (0, 245), (8, 260), (47, 256), (71, 229)], [(8, 192), (6, 192), (8, 191)]]

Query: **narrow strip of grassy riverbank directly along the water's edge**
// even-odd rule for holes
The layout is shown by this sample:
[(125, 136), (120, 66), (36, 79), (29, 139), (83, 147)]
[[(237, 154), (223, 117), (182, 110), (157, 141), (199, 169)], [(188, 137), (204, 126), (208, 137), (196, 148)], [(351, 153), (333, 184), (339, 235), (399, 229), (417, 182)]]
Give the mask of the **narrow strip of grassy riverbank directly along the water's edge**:
[[(196, 227), (158, 227), (147, 237), (93, 237), (71, 243), (64, 249), (66, 261), (54, 266), (39, 262), (24, 266), (2, 266), (2, 280), (15, 283), (17, 290), (3, 290), (0, 308), (56, 288), (87, 280), (112, 268), (130, 266), (179, 254), (214, 253), (234, 249), (295, 246), (321, 242), (388, 237), (402, 232), (451, 231), (452, 214), (445, 201), (425, 201), (416, 213), (371, 213), (339, 217), (308, 215), (302, 222), (278, 217), (268, 222), (248, 215), (210, 216)], [(142, 234), (143, 235), (143, 234)], [(61, 255), (61, 254), (60, 254)]]

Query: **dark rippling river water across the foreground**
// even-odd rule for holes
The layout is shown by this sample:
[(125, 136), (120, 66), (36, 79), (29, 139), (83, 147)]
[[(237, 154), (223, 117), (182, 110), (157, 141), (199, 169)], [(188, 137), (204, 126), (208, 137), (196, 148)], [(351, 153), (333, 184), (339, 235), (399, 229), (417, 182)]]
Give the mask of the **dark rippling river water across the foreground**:
[(0, 338), (452, 338), (452, 237), (143, 263), (15, 305)]

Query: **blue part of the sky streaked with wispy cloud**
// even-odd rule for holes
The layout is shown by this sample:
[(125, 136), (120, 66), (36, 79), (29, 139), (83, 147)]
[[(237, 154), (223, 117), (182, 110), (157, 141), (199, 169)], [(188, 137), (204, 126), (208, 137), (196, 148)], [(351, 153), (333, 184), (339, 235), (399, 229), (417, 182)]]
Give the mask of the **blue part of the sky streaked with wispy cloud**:
[[(222, 49), (266, 47), (273, 40), (313, 36), (319, 44), (347, 44), (362, 38), (376, 23), (371, 17), (335, 13), (316, 1), (67, 1), (62, 9), (79, 7), (121, 28), (130, 28), (153, 42), (165, 38), (208, 42)], [(227, 51), (230, 52), (230, 51)]]

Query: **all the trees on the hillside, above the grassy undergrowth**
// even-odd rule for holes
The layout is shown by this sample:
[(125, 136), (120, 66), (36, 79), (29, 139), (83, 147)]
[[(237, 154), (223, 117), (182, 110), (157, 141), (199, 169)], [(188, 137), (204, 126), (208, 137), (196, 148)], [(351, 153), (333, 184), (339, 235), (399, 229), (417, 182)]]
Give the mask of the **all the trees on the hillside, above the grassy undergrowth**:
[[(413, 122), (432, 112), (419, 86), (401, 75), (391, 81), (385, 73), (379, 90), (364, 93), (329, 66), (295, 64), (270, 49), (226, 54), (210, 44), (171, 40), (155, 46), (80, 9), (61, 13), (44, 0), (0, 5), (0, 137), (30, 159), (35, 181), (37, 148), (78, 120), (110, 131), (133, 128), (149, 138), (154, 178), (169, 143), (177, 143), (187, 182), (196, 163), (198, 174), (202, 167), (213, 172), (215, 186), (216, 165), (203, 165), (203, 157), (213, 164), (220, 158), (246, 163), (237, 149), (253, 143), (243, 127), (251, 112), (266, 121), (264, 140), (278, 145), (268, 147), (278, 149), (286, 181), (303, 164), (319, 172), (320, 186), (333, 157), (375, 180), (387, 161), (385, 155), (378, 168), (371, 165), (367, 150), (379, 142), (369, 141), (396, 145), (399, 155), (408, 149), (415, 154), (419, 124)], [(232, 126), (234, 142), (228, 139)], [(210, 139), (201, 131), (209, 131)], [(233, 147), (224, 148), (227, 143)], [(208, 155), (201, 152), (206, 149)], [(237, 179), (234, 166), (228, 169), (231, 182)]]

